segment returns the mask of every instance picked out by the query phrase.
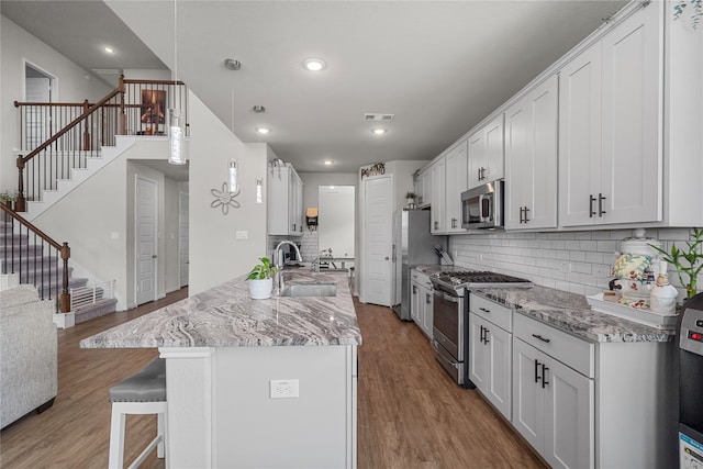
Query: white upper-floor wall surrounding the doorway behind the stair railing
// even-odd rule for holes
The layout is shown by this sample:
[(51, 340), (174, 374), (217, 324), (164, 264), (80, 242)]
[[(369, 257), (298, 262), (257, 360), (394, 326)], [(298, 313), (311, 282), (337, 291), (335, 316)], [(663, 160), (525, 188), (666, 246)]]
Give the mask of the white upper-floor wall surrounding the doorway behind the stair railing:
[[(16, 164), (12, 153), (18, 147), (18, 109), (14, 101), (24, 101), (24, 63), (57, 78), (55, 101), (96, 101), (113, 88), (96, 75), (80, 68), (49, 45), (20, 27), (5, 16), (0, 23), (0, 191), (16, 189)], [(57, 93), (57, 94), (56, 94)]]

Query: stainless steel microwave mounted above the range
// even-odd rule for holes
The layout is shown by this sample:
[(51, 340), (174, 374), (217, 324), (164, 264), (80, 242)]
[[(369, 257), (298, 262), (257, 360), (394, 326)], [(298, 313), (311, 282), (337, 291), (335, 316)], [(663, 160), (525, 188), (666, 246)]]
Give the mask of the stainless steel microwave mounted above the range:
[(461, 192), (462, 228), (503, 227), (503, 185), (499, 180)]

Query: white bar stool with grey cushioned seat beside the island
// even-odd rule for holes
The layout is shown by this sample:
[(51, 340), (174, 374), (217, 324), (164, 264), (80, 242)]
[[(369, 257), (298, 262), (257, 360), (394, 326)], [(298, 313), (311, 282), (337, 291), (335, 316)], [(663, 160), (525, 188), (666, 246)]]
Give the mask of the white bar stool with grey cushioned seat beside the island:
[(124, 423), (126, 414), (157, 414), (156, 437), (130, 465), (138, 467), (157, 448), (156, 455), (164, 457), (166, 447), (166, 360), (155, 358), (136, 375), (110, 388), (112, 421), (110, 423), (110, 469), (122, 469), (124, 465)]

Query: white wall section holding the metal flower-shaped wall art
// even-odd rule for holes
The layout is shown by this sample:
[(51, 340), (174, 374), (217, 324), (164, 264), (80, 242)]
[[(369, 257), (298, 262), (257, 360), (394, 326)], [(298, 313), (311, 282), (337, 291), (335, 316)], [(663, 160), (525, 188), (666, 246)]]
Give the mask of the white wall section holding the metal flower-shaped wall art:
[[(190, 98), (190, 284), (196, 294), (248, 272), (266, 255), (266, 200), (256, 203), (256, 179), (267, 183), (270, 148), (243, 144), (191, 93)], [(239, 160), (239, 209), (227, 215), (210, 206), (212, 189), (221, 190), (230, 158)], [(266, 197), (266, 187), (264, 187)], [(235, 239), (237, 231), (248, 239)]]

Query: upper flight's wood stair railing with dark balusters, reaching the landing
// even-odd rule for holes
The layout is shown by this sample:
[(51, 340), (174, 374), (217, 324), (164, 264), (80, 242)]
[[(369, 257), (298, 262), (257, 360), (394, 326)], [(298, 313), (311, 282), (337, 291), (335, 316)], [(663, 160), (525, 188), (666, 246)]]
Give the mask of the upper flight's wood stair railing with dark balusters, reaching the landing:
[[(120, 77), (118, 88), (93, 104), (86, 100), (15, 101), (14, 105), (20, 109), (20, 145), (26, 152), (16, 159), (15, 211), (24, 212), (27, 200), (41, 200), (44, 190), (56, 189), (58, 180), (69, 178), (72, 168), (86, 167), (88, 158), (99, 156), (101, 146), (114, 145), (115, 135), (164, 135), (168, 108), (188, 115), (188, 91), (182, 81)], [(188, 129), (186, 121), (187, 135)]]

